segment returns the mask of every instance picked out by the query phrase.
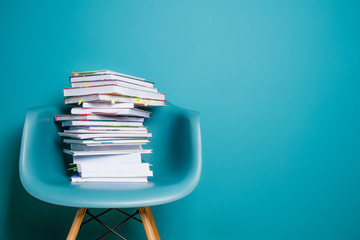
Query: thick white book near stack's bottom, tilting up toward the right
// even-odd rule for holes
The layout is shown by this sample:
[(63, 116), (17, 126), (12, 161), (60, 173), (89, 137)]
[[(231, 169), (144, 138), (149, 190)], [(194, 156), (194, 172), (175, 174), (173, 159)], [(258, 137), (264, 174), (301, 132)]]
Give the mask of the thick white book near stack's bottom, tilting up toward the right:
[(74, 164), (135, 164), (141, 163), (141, 153), (73, 156)]

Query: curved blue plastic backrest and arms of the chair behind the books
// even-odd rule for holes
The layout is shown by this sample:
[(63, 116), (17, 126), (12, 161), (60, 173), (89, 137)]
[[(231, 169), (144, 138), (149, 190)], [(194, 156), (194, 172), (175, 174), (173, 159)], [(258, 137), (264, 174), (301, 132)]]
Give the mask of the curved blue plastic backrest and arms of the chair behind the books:
[[(153, 149), (153, 154), (143, 154), (143, 159), (153, 164), (151, 186), (167, 186), (176, 192), (176, 197), (149, 203), (155, 205), (184, 197), (196, 187), (201, 173), (201, 136), (197, 112), (171, 103), (149, 110), (151, 118), (146, 119), (144, 125), (153, 137), (145, 148)], [(71, 188), (62, 138), (57, 134), (60, 127), (54, 123), (55, 115), (66, 113), (69, 107), (63, 105), (28, 110), (20, 152), (20, 178), (25, 189), (40, 200), (56, 204), (59, 202), (55, 197), (49, 197), (53, 186), (58, 186), (56, 191)]]

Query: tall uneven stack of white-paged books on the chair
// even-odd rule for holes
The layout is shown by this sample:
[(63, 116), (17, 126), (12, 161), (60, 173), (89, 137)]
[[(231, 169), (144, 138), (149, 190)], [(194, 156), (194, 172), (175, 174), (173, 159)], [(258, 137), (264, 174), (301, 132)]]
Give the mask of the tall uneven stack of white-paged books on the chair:
[(143, 78), (109, 70), (73, 72), (70, 82), (65, 104), (77, 106), (55, 121), (72, 156), (71, 181), (148, 182), (153, 171), (141, 154), (152, 152), (143, 148), (152, 136), (143, 125), (150, 112), (139, 107), (165, 106), (165, 95)]

